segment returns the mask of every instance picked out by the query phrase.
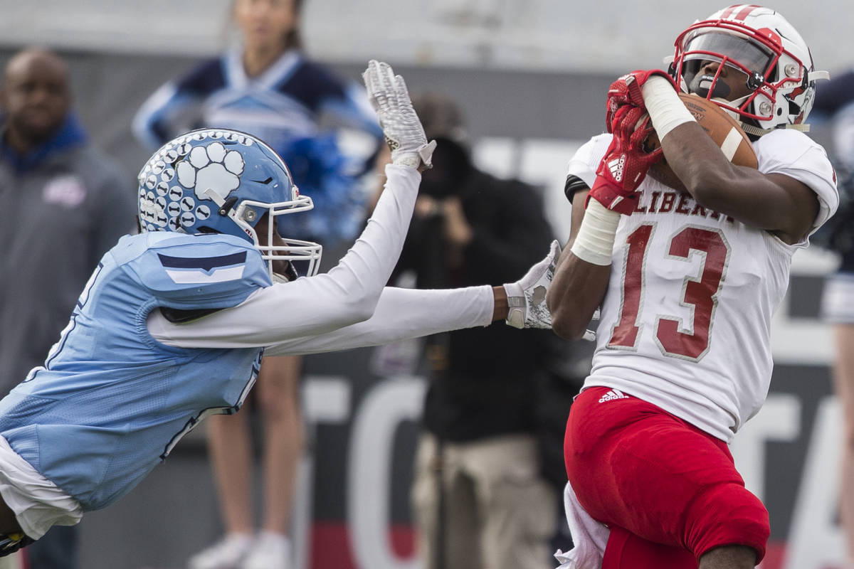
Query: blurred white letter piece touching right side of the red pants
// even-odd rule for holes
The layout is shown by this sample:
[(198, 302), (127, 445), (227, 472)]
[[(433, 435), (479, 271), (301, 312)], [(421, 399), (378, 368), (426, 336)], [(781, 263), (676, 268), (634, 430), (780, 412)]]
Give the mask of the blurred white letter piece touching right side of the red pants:
[(763, 502), (768, 472), (766, 444), (772, 440), (793, 441), (798, 438), (801, 407), (800, 399), (792, 393), (769, 394), (762, 411), (740, 428), (729, 447), (747, 490)]

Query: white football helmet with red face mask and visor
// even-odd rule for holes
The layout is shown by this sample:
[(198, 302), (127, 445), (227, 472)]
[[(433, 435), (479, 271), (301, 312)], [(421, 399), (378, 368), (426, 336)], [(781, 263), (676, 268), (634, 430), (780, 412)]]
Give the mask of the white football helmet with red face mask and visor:
[[(727, 101), (728, 88), (717, 82), (720, 71), (695, 81), (702, 61), (746, 73), (752, 93)], [(804, 121), (816, 96), (816, 79), (829, 78), (815, 70), (810, 48), (782, 15), (744, 4), (718, 10), (681, 32), (670, 73), (682, 90), (738, 115), (746, 132), (756, 136), (776, 128), (808, 131)]]

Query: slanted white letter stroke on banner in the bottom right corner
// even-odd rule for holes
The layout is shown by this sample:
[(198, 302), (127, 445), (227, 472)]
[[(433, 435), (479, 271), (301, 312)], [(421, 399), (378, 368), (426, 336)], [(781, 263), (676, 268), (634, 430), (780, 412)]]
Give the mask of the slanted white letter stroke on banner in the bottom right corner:
[(825, 398), (807, 446), (784, 569), (823, 569), (844, 563), (845, 538), (836, 524), (842, 433), (842, 407), (836, 398)]

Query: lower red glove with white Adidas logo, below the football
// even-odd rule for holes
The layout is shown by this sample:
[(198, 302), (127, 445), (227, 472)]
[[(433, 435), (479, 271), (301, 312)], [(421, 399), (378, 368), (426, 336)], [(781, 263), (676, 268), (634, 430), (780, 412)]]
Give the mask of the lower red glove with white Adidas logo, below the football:
[(596, 181), (588, 200), (594, 198), (623, 215), (635, 211), (638, 200), (635, 190), (646, 177), (649, 166), (662, 156), (660, 146), (652, 152), (644, 152), (644, 141), (650, 133), (652, 124), (643, 108), (623, 105), (617, 109), (614, 137), (596, 170)]

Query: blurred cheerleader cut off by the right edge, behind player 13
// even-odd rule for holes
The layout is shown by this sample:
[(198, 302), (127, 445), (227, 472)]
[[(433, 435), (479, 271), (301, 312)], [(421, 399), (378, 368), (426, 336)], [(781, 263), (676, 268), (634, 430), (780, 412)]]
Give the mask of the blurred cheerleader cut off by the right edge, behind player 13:
[(834, 330), (834, 390), (843, 409), (845, 436), (839, 514), (847, 566), (854, 566), (854, 71), (822, 84), (814, 108), (831, 118), (831, 157), (837, 174), (839, 209), (814, 236), (817, 245), (839, 253), (839, 268), (828, 276), (822, 298), (824, 318)]

